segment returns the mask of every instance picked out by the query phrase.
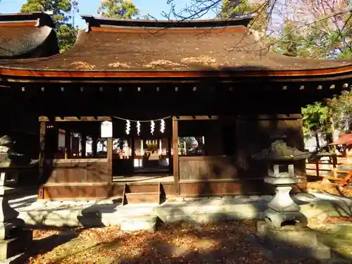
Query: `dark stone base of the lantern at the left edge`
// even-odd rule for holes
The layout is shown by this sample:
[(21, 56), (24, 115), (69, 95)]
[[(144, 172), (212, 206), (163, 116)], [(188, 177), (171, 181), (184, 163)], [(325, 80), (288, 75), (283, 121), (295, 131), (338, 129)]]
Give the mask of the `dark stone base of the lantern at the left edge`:
[(21, 230), (18, 232), (18, 237), (0, 240), (0, 261), (23, 253), (29, 248), (32, 239), (33, 232), (31, 230)]

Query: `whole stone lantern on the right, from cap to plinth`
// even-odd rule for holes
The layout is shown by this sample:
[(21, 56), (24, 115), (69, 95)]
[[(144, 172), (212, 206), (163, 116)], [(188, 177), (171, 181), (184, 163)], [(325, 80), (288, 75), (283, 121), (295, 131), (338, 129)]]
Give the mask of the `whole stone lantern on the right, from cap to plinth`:
[(310, 153), (287, 146), (284, 136), (273, 138), (271, 146), (253, 156), (268, 164), (264, 181), (275, 186), (275, 197), (264, 212), (265, 221), (257, 222), (257, 234), (250, 240), (262, 249), (268, 258), (313, 257), (329, 259), (329, 248), (320, 244), (308, 220), (289, 192), (298, 183), (294, 177), (294, 162), (309, 158)]

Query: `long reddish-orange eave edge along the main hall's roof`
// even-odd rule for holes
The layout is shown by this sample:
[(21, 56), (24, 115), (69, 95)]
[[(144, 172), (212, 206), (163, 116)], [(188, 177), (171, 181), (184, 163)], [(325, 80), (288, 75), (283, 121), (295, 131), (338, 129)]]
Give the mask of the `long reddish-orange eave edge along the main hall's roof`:
[[(0, 67), (0, 76), (6, 78), (47, 78), (50, 79), (182, 79), (194, 78), (260, 78), (275, 81), (300, 80), (309, 82), (313, 80), (352, 80), (352, 65), (340, 68), (329, 68), (319, 70), (30, 70), (20, 68)], [(5, 78), (5, 79), (6, 79)], [(351, 84), (347, 84), (351, 85)]]

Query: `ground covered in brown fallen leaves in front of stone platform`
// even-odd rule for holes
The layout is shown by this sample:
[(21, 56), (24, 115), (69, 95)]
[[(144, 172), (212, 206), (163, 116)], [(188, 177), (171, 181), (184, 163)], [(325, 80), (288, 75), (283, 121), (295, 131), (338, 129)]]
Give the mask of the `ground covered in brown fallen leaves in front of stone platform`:
[[(165, 225), (156, 232), (121, 232), (118, 227), (72, 232), (75, 232), (73, 239), (54, 247), (51, 251), (33, 256), (29, 263), (272, 263), (244, 239), (246, 234), (255, 232), (254, 222)], [(46, 239), (48, 245), (49, 238)], [(54, 240), (51, 243), (54, 243)], [(275, 264), (284, 263), (318, 262), (315, 260), (275, 262)]]

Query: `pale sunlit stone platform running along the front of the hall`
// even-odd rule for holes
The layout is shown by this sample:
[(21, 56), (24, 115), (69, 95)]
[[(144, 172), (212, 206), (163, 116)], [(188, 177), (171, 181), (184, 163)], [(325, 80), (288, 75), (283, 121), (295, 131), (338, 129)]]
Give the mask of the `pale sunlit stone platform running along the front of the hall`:
[[(301, 212), (309, 218), (348, 216), (352, 212), (352, 200), (320, 194), (293, 196)], [(134, 204), (122, 206), (114, 200), (104, 201), (36, 201), (35, 196), (25, 196), (10, 201), (19, 218), (34, 226), (108, 226), (122, 225), (134, 219), (143, 220), (141, 229), (154, 228), (161, 222), (217, 222), (221, 220), (263, 219), (272, 196), (236, 196), (222, 198), (177, 198), (158, 204)], [(149, 220), (146, 220), (149, 218)], [(146, 225), (150, 222), (150, 225)], [(125, 225), (126, 226), (126, 225)], [(148, 228), (146, 228), (149, 226)], [(142, 228), (143, 227), (143, 228)]]

